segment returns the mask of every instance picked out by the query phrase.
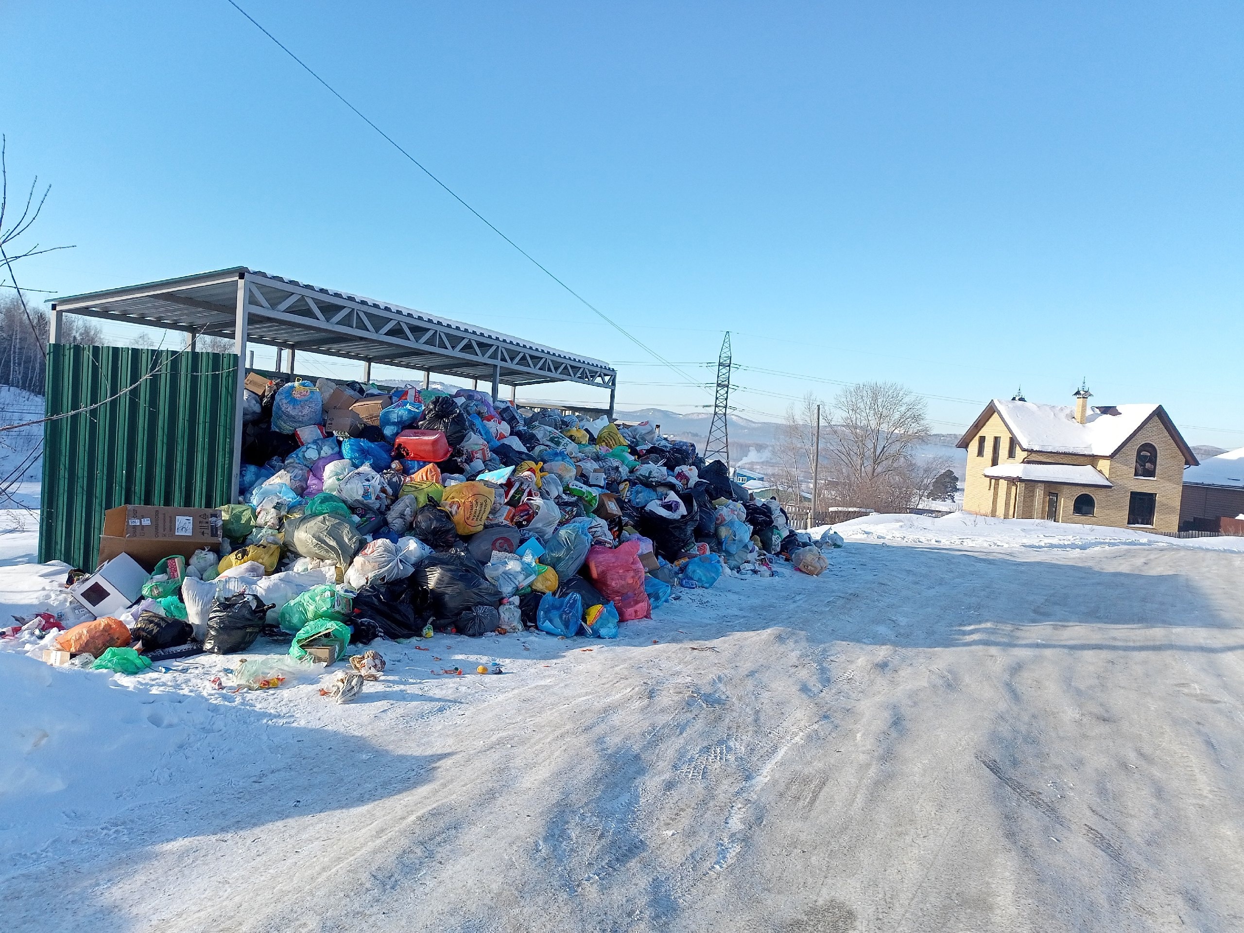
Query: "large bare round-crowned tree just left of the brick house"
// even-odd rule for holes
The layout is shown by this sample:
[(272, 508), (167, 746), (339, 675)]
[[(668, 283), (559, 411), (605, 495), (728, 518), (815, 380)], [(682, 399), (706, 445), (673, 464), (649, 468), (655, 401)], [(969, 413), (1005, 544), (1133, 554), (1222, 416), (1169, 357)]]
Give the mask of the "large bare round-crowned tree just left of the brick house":
[(829, 454), (842, 504), (907, 511), (945, 468), (939, 463), (934, 470), (916, 459), (928, 434), (924, 399), (898, 383), (862, 382), (842, 389), (832, 420)]

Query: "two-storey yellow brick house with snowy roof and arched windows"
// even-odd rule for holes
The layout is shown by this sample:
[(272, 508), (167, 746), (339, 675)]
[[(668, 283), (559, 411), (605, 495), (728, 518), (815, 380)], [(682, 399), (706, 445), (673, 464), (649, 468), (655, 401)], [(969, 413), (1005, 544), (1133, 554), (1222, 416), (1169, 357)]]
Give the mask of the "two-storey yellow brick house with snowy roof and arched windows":
[(1075, 407), (995, 398), (958, 447), (968, 450), (963, 510), (1177, 531), (1183, 469), (1195, 454), (1159, 404)]

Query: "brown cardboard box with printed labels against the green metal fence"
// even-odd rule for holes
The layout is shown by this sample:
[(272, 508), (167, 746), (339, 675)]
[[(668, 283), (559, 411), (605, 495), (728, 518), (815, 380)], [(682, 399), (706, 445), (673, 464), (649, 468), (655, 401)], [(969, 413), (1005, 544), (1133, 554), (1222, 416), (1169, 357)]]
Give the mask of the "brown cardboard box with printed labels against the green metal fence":
[(100, 565), (127, 554), (151, 570), (174, 554), (189, 559), (200, 547), (218, 549), (221, 532), (219, 509), (119, 505), (103, 514)]

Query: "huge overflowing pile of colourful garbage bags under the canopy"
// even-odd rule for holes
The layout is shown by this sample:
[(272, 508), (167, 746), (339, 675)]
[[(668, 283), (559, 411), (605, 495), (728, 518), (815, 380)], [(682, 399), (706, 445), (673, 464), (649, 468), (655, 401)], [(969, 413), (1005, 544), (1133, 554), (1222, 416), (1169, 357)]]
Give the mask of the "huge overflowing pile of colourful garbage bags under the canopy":
[(238, 653), (264, 634), (331, 663), (437, 631), (611, 638), (680, 588), (771, 576), (778, 556), (815, 576), (841, 545), (647, 422), (326, 381), (270, 382), (245, 412), (220, 552), (162, 561), (124, 617), (62, 633), (68, 651), (124, 666), (107, 652)]

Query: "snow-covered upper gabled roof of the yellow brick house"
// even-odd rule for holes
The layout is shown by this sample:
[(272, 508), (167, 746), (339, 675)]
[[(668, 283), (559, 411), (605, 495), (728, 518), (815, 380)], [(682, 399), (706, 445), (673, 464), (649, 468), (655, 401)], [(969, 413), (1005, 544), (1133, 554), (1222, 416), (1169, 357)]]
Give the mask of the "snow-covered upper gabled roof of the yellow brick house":
[(957, 447), (968, 447), (995, 412), (1024, 450), (1082, 457), (1113, 457), (1151, 418), (1157, 417), (1183, 454), (1184, 463), (1191, 466), (1199, 463), (1166, 409), (1152, 403), (1106, 408), (1105, 412), (1110, 414), (1090, 409), (1085, 423), (1080, 424), (1071, 406), (1005, 402), (995, 398), (985, 406), (985, 411), (968, 428)]

